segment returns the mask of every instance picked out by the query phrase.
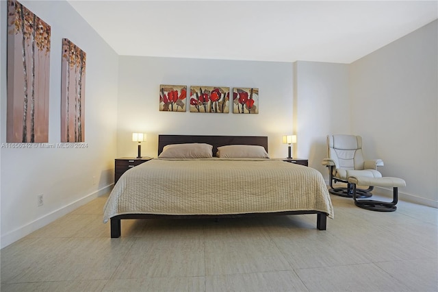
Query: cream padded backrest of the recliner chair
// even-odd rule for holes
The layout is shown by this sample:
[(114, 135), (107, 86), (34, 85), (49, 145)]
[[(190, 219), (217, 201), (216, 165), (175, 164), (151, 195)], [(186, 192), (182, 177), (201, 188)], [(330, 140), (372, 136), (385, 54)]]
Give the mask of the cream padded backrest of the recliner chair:
[(329, 158), (336, 169), (363, 169), (362, 138), (354, 135), (328, 135)]

